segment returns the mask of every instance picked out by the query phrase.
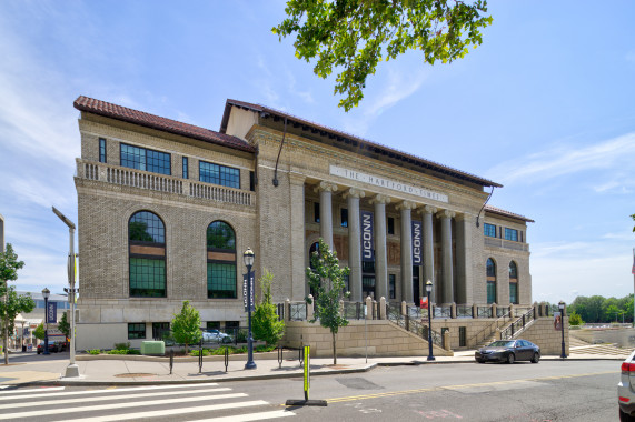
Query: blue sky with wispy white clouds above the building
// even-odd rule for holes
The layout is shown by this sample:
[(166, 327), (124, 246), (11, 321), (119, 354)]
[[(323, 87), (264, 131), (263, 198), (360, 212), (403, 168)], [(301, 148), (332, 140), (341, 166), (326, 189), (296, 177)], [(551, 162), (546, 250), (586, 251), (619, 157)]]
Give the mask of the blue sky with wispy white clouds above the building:
[(271, 33), (284, 9), (0, 1), (0, 213), (19, 290), (67, 283), (51, 205), (77, 222), (83, 94), (214, 130), (226, 99), (261, 103), (489, 178), (505, 185), (490, 204), (536, 221), (534, 300), (633, 292), (635, 2), (490, 1), (483, 46), (449, 66), (381, 63), (349, 113)]

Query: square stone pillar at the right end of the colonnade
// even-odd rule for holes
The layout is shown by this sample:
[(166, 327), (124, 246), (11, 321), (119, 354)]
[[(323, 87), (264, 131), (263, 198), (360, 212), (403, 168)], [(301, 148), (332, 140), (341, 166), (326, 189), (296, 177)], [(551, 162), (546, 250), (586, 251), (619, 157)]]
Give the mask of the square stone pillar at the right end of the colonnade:
[(456, 215), (456, 303), (473, 303), (472, 285), (472, 230), (474, 217)]

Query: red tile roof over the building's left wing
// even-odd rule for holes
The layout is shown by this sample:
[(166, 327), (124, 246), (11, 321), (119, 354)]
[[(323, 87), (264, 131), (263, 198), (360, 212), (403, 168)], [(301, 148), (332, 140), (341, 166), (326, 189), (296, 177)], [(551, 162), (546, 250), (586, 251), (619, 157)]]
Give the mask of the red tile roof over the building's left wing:
[(197, 139), (199, 141), (214, 143), (231, 148), (235, 150), (255, 152), (256, 149), (244, 140), (225, 133), (219, 133), (209, 129), (194, 124), (182, 123), (176, 120), (161, 118), (155, 114), (112, 104), (110, 102), (95, 100), (80, 96), (75, 100), (73, 105), (80, 111), (103, 115), (107, 118), (139, 124), (168, 133), (180, 134), (182, 137)]

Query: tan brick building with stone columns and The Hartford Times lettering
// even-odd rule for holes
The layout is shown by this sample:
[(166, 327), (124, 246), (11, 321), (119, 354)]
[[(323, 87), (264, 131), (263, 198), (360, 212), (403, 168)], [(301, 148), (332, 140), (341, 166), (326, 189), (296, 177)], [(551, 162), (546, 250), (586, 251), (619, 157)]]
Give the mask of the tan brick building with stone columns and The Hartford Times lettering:
[(484, 205), (500, 184), (262, 105), (212, 131), (79, 97), (78, 349), (156, 336), (183, 300), (244, 324), (242, 252), (276, 302), (309, 293), (319, 238), (350, 301), (532, 303), (527, 222)]

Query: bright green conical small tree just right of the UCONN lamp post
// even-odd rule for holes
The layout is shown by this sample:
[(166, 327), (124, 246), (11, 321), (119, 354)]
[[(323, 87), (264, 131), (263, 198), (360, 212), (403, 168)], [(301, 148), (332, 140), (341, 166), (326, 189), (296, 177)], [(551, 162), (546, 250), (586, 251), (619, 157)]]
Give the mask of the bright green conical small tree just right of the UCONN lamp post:
[(271, 303), (271, 282), (274, 274), (265, 269), (260, 278), (260, 301), (256, 304), (252, 316), (254, 336), (264, 340), (267, 345), (277, 344), (285, 335), (285, 322), (278, 319), (276, 305)]

